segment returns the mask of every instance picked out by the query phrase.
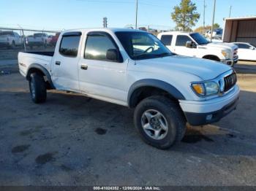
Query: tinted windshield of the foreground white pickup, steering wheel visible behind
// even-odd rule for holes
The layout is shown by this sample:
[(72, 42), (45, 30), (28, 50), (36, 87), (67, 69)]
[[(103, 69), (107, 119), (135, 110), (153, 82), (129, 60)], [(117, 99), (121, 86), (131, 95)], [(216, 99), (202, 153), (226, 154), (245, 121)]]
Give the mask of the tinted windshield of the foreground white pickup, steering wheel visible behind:
[(132, 59), (141, 60), (173, 55), (153, 34), (126, 31), (116, 32), (116, 36)]

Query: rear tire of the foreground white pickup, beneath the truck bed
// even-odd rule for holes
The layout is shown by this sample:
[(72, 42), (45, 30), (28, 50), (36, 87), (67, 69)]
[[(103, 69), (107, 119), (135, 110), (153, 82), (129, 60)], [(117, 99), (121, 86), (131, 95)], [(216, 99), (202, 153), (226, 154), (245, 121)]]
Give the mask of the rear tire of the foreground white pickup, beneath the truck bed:
[(31, 74), (31, 79), (29, 80), (29, 90), (32, 101), (36, 104), (44, 103), (47, 97), (46, 83), (45, 79), (37, 74)]

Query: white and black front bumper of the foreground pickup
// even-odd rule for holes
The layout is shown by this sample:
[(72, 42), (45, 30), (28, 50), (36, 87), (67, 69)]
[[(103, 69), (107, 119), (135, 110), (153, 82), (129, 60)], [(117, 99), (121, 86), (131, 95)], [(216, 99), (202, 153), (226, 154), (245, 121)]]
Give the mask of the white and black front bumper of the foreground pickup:
[(227, 95), (208, 101), (180, 101), (180, 106), (190, 125), (206, 125), (221, 120), (236, 109), (239, 92), (236, 85)]

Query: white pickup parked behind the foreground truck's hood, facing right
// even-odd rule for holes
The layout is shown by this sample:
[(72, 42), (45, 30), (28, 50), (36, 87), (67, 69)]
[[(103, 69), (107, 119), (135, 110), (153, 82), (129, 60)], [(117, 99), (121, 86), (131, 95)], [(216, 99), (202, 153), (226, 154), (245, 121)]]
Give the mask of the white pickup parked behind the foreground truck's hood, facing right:
[(198, 33), (170, 31), (157, 36), (172, 52), (196, 58), (220, 61), (233, 66), (238, 62), (238, 47), (232, 43), (208, 42)]

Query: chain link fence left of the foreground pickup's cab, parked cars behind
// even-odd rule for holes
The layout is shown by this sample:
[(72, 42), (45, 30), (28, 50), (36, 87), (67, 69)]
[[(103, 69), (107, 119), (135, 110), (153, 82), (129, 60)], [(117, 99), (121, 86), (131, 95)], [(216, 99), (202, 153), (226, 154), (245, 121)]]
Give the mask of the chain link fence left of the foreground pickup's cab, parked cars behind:
[(61, 31), (0, 28), (0, 61), (16, 60), (18, 52), (53, 51)]

